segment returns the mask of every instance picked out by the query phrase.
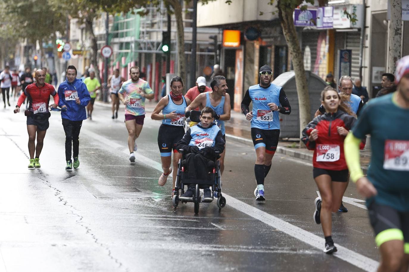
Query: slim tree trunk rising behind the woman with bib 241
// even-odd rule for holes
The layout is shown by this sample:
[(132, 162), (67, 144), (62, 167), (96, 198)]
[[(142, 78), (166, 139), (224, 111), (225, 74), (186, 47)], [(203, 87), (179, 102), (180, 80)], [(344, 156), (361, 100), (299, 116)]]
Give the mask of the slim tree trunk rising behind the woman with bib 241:
[(169, 3), (173, 7), (176, 18), (177, 42), (178, 42), (178, 74), (187, 82), (186, 77), (186, 57), (184, 55), (184, 27), (182, 18), (182, 6), (178, 0), (170, 0)]

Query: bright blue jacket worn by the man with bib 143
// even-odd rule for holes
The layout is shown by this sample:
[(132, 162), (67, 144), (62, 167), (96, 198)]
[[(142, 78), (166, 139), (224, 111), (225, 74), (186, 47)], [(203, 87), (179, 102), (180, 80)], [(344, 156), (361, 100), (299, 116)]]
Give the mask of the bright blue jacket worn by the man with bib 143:
[[(81, 103), (76, 104), (75, 100), (70, 98), (70, 94), (77, 93)], [(67, 96), (67, 100), (65, 99)], [(67, 111), (61, 111), (61, 118), (69, 119), (71, 121), (80, 121), (87, 119), (87, 114), (85, 111), (85, 106), (90, 102), (91, 97), (88, 93), (87, 86), (81, 80), (75, 79), (74, 82), (70, 83), (67, 79), (58, 86), (58, 106), (67, 106)]]

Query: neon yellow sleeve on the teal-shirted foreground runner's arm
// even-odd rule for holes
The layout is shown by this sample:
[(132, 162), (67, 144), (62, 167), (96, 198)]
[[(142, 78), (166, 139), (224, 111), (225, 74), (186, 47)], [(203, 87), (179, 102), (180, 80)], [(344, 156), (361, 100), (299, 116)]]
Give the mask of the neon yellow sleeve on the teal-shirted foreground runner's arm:
[(359, 178), (364, 176), (361, 169), (359, 145), (361, 139), (355, 137), (352, 131), (348, 133), (344, 140), (344, 155), (345, 161), (348, 165), (349, 172), (351, 172), (351, 179), (356, 182)]

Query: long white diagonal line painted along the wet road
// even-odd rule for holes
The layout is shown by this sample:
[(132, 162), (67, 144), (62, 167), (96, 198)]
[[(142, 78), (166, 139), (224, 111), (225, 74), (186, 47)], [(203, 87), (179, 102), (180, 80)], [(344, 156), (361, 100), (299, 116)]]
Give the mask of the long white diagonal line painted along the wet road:
[[(117, 144), (106, 137), (98, 135), (97, 133), (94, 133), (89, 130), (83, 130), (83, 133), (87, 134), (89, 137), (92, 137), (93, 139), (96, 139), (97, 141), (106, 145), (107, 148), (114, 148), (114, 151), (118, 151), (118, 149), (120, 150), (120, 147), (121, 147), (120, 144)], [(124, 149), (123, 153), (128, 155), (129, 154), (128, 149)], [(153, 159), (150, 159), (140, 154), (138, 154), (136, 158), (142, 164), (146, 164), (162, 172), (162, 165), (159, 162), (154, 161)], [(294, 226), (277, 217), (274, 217), (273, 215), (270, 215), (267, 212), (263, 212), (253, 206), (248, 205), (247, 203), (244, 203), (243, 201), (240, 201), (238, 199), (235, 199), (234, 197), (227, 195), (226, 193), (223, 193), (223, 195), (226, 197), (226, 200), (227, 200), (226, 202), (228, 206), (235, 208), (236, 210), (243, 212), (246, 215), (253, 217), (254, 219), (257, 219), (277, 230), (280, 230), (284, 232), (285, 234), (288, 234), (296, 239), (299, 239), (300, 241), (303, 241), (304, 243), (307, 243), (313, 246), (314, 248), (318, 248), (320, 250), (323, 249), (323, 246), (325, 244), (324, 238), (319, 237), (315, 234), (312, 234), (297, 226)], [(354, 252), (352, 250), (349, 250), (348, 248), (345, 248), (341, 245), (337, 244), (337, 248), (338, 248), (338, 252), (333, 254), (335, 257), (338, 257), (339, 259), (342, 259), (343, 261), (351, 263), (352, 265), (355, 265), (356, 267), (361, 268), (362, 270), (372, 272), (372, 271), (375, 271), (379, 265), (377, 261), (371, 258), (368, 258), (362, 254), (359, 254), (357, 252)]]

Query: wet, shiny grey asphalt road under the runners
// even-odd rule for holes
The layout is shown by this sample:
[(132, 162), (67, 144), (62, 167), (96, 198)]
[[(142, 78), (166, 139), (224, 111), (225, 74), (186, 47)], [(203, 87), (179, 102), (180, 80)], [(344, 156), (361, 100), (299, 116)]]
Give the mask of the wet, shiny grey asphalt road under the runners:
[(309, 162), (277, 154), (267, 200), (258, 203), (254, 148), (228, 139), (226, 207), (201, 203), (194, 215), (193, 203), (172, 207), (170, 179), (157, 185), (160, 122), (147, 113), (130, 164), (123, 108), (110, 116), (95, 106), (81, 129), (80, 167), (66, 172), (61, 117), (52, 112), (41, 168), (29, 170), (26, 117), (0, 110), (0, 272), (375, 270), (378, 252), (354, 184), (345, 194), (349, 212), (333, 215), (338, 252), (329, 256), (312, 221)]

